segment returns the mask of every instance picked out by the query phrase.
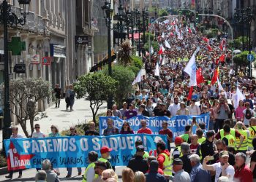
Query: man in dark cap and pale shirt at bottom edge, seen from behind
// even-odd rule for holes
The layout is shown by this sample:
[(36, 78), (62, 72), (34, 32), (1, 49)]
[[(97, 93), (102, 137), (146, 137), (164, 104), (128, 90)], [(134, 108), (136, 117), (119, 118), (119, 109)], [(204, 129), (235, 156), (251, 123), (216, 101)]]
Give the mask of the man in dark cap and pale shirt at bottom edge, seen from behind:
[(170, 180), (173, 182), (190, 182), (189, 173), (183, 170), (183, 162), (181, 159), (173, 160), (173, 172), (174, 176), (170, 176)]

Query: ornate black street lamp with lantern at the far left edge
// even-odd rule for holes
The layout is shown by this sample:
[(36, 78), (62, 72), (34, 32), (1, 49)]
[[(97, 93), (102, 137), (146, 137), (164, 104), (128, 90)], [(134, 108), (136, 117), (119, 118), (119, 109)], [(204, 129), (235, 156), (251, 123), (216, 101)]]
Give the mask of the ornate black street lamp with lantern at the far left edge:
[[(18, 17), (12, 12), (10, 4), (4, 0), (0, 4), (0, 23), (4, 25), (4, 128), (3, 139), (10, 138), (12, 135), (10, 97), (9, 97), (9, 61), (8, 61), (8, 25), (25, 25), (26, 15), (29, 15), (30, 0), (18, 0), (20, 4), (20, 15)], [(23, 8), (23, 12), (21, 10)]]

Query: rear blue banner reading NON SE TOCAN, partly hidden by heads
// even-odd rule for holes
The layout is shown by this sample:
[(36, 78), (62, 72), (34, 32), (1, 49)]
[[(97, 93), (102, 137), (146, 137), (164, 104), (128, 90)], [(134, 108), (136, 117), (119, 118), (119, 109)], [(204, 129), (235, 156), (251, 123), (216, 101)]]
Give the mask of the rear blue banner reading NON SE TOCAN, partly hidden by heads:
[[(173, 138), (176, 138), (176, 136), (184, 134), (185, 126), (187, 124), (191, 124), (193, 117), (196, 118), (197, 123), (205, 122), (206, 129), (208, 129), (208, 125), (210, 122), (209, 114), (202, 114), (197, 116), (181, 115), (181, 116), (173, 116), (171, 118), (168, 118), (167, 116), (146, 117), (146, 116), (140, 115), (140, 116), (132, 117), (131, 119), (127, 119), (126, 121), (129, 122), (129, 126), (136, 133), (140, 129), (140, 121), (142, 119), (145, 119), (147, 121), (147, 127), (150, 128), (154, 134), (158, 134), (159, 130), (162, 130), (162, 122), (165, 121), (168, 123), (168, 128), (173, 132)], [(113, 119), (114, 126), (116, 126), (118, 130), (121, 131), (121, 127), (124, 120), (118, 117), (99, 116), (99, 134), (100, 135), (103, 135), (103, 131), (108, 127), (107, 125), (108, 118)], [(195, 130), (196, 130), (196, 126), (193, 127), (192, 132), (195, 133)]]

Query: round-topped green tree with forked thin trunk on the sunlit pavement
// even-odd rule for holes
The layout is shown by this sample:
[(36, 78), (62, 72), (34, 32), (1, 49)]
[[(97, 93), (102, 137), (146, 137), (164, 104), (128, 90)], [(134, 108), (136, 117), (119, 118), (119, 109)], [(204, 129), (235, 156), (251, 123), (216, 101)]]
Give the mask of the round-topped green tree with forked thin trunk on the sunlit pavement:
[(103, 104), (103, 100), (115, 95), (116, 85), (118, 82), (115, 79), (102, 74), (102, 72), (80, 76), (78, 82), (74, 83), (76, 98), (88, 96), (94, 123), (96, 123), (96, 115), (99, 107)]

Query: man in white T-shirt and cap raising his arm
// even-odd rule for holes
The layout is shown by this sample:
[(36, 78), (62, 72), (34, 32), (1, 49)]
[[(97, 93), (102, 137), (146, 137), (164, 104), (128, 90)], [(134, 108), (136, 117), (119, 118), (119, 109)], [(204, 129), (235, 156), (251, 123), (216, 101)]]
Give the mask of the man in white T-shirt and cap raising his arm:
[(203, 169), (209, 171), (215, 171), (215, 182), (218, 181), (220, 176), (227, 176), (230, 182), (233, 181), (235, 175), (235, 169), (232, 165), (228, 163), (228, 152), (220, 151), (219, 152), (219, 162), (213, 165), (207, 165), (207, 162), (210, 159), (210, 156), (207, 156), (203, 159)]

